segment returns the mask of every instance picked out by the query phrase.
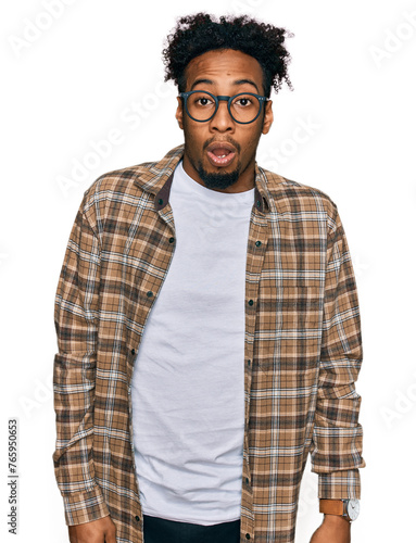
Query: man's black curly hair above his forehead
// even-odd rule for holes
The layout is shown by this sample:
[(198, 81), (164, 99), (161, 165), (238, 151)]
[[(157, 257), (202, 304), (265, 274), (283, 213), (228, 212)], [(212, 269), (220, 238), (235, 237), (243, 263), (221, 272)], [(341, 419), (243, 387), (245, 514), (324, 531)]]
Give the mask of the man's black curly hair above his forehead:
[(288, 76), (290, 54), (285, 47), (285, 38), (292, 36), (285, 28), (260, 23), (248, 15), (223, 15), (219, 21), (206, 13), (181, 17), (167, 36), (163, 50), (165, 81), (173, 79), (182, 92), (186, 68), (192, 59), (206, 51), (234, 49), (250, 54), (260, 63), (265, 96), (270, 96), (272, 87), (278, 92), (283, 80), (292, 89)]

